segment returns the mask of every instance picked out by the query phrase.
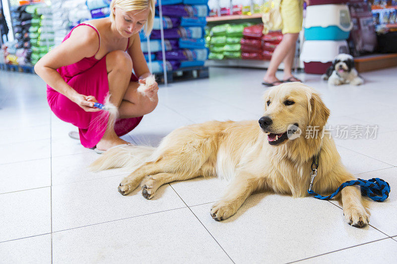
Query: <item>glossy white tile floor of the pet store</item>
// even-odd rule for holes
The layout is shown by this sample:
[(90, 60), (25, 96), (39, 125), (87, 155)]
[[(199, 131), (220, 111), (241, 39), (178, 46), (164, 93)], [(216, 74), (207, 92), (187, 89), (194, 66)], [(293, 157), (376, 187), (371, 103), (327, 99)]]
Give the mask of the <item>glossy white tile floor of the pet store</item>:
[[(252, 195), (231, 218), (209, 210), (227, 182), (167, 184), (153, 200), (117, 186), (127, 172), (93, 173), (98, 157), (68, 138), (36, 75), (0, 72), (0, 263), (397, 263), (397, 68), (362, 74), (359, 87), (329, 87), (299, 74), (331, 109), (329, 123), (379, 125), (376, 139), (337, 139), (357, 177), (392, 188), (371, 202), (370, 226), (344, 222), (335, 202)], [(263, 70), (212, 68), (210, 78), (159, 90), (160, 104), (126, 140), (158, 144), (173, 129), (210, 119), (258, 119)]]

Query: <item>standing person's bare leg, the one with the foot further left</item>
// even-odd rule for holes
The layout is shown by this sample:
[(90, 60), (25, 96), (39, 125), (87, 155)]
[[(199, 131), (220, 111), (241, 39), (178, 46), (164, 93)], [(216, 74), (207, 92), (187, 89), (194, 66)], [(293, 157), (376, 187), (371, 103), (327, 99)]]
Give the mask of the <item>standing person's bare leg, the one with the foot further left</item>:
[[(295, 49), (295, 43), (298, 38), (298, 35), (299, 33), (284, 34), (282, 41), (280, 42), (280, 44), (277, 45), (273, 55), (271, 56), (270, 64), (264, 77), (264, 81), (266, 83), (274, 83), (274, 85), (278, 85), (281, 83), (281, 82), (277, 83), (277, 81), (279, 80), (276, 78), (276, 71), (281, 61), (283, 61), (290, 53), (291, 47)], [(292, 54), (292, 56), (294, 56), (294, 54)], [(292, 68), (292, 62), (290, 63), (290, 67)]]

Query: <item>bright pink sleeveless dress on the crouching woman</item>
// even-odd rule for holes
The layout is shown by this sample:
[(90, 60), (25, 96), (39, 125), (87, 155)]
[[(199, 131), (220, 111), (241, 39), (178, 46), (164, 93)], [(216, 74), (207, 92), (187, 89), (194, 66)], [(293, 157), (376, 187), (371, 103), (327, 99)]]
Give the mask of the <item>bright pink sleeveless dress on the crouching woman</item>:
[[(76, 27), (81, 25), (93, 28), (98, 34), (99, 44), (101, 43), (99, 32), (96, 28), (88, 24), (79, 24)], [(66, 35), (64, 41), (69, 38), (73, 29)], [(76, 90), (77, 93), (86, 96), (92, 95), (99, 103), (104, 103), (104, 99), (109, 93), (106, 55), (99, 60), (95, 58), (95, 55), (89, 58), (86, 57), (76, 63), (60, 67), (57, 71), (61, 74), (65, 82)], [(136, 76), (132, 74), (131, 81), (136, 82), (137, 80)], [(93, 148), (101, 140), (108, 123), (108, 112), (86, 112), (83, 108), (71, 102), (66, 96), (58, 93), (49, 85), (47, 85), (47, 101), (55, 115), (61, 120), (78, 127), (80, 142), (84, 147)], [(96, 122), (99, 119), (101, 119), (101, 122)], [(117, 119), (115, 123), (116, 134), (118, 136), (127, 134), (139, 124), (140, 120), (142, 120), (142, 116)]]

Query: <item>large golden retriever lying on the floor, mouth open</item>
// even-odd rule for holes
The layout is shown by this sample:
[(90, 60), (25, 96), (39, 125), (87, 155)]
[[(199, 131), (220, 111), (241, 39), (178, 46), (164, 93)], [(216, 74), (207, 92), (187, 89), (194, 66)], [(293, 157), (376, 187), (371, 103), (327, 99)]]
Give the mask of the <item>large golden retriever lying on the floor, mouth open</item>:
[[(223, 198), (210, 211), (217, 221), (236, 213), (255, 191), (308, 196), (312, 161), (317, 155), (316, 193), (330, 194), (343, 182), (356, 179), (342, 165), (333, 139), (323, 137), (330, 110), (318, 93), (302, 83), (284, 83), (266, 91), (264, 99), (260, 124), (252, 120), (188, 125), (175, 129), (157, 148), (109, 150), (91, 164), (91, 169), (133, 169), (118, 190), (126, 195), (141, 184), (146, 199), (173, 181), (199, 176), (231, 179)], [(300, 137), (288, 137), (291, 124), (299, 127)], [(309, 127), (320, 128), (317, 137), (306, 136)], [(368, 224), (369, 211), (362, 204), (359, 187), (346, 187), (338, 196), (347, 223), (356, 227)]]

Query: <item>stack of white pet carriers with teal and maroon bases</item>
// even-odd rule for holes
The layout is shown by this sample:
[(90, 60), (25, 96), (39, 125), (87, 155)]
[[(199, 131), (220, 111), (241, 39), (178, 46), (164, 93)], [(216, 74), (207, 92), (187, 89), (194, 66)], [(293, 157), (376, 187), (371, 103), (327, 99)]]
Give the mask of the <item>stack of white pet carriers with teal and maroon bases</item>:
[(347, 39), (353, 23), (347, 0), (312, 0), (306, 8), (305, 42), (301, 60), (306, 73), (323, 74), (339, 53), (349, 53)]

